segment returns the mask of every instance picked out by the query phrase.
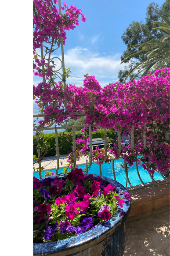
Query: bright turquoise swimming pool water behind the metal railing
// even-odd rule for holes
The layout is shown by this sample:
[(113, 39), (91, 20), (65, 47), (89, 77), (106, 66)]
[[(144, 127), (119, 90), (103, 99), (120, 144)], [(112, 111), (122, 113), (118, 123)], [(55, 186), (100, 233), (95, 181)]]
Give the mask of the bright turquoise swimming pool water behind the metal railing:
[[(121, 169), (121, 166), (120, 166), (121, 163), (124, 163), (124, 160), (122, 158), (119, 158), (119, 160), (115, 161), (116, 181), (123, 184), (123, 186), (126, 186), (126, 181), (127, 181), (126, 174), (124, 173), (124, 169)], [(85, 164), (79, 165), (79, 168), (83, 169), (85, 167), (86, 167)], [(58, 173), (62, 173), (64, 168), (59, 169)], [(147, 182), (152, 181), (148, 172), (146, 170), (144, 170), (141, 165), (138, 166), (138, 169), (139, 169), (139, 173), (140, 173), (140, 176), (141, 176), (141, 179), (143, 180), (143, 182), (147, 183)], [(56, 173), (55, 169), (50, 169), (50, 171), (53, 173)], [(112, 162), (110, 163), (110, 165), (108, 163), (101, 165), (101, 172), (102, 172), (102, 176), (114, 179), (113, 171), (112, 171)], [(89, 173), (100, 175), (99, 165), (97, 165), (96, 162), (92, 164), (92, 166), (89, 170)], [(45, 175), (45, 171), (42, 172), (42, 177), (44, 175)], [(36, 173), (36, 172), (33, 173), (33, 176), (36, 177), (37, 179), (40, 178), (39, 173)], [(141, 184), (141, 181), (139, 180), (139, 178), (137, 176), (136, 164), (134, 164), (133, 166), (130, 166), (130, 168), (128, 169), (128, 177), (133, 186)], [(154, 173), (154, 179), (156, 181), (161, 180), (162, 176), (156, 172), (156, 173)], [(127, 185), (127, 186), (129, 186), (129, 185)]]

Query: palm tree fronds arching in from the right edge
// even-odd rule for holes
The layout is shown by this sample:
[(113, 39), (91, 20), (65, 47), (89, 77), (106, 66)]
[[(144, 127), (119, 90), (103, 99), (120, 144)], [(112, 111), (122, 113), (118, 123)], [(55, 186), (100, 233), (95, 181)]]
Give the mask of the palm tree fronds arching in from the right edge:
[[(170, 5), (170, 0), (166, 1)], [(170, 12), (167, 13), (166, 11), (163, 11), (163, 14), (167, 16), (160, 15), (163, 22), (153, 22), (159, 26), (154, 29), (162, 31), (163, 37), (160, 39), (152, 39), (143, 44), (130, 47), (137, 47), (137, 49), (142, 47), (142, 50), (136, 53), (136, 49), (133, 54), (127, 55), (121, 62), (122, 64), (134, 56), (144, 56), (144, 60), (142, 62), (137, 63), (134, 68), (130, 69), (128, 75), (132, 74), (134, 71), (137, 71), (132, 80), (140, 73), (142, 73), (142, 75), (147, 75), (148, 71), (151, 71), (151, 74), (153, 74), (158, 68), (170, 68)]]

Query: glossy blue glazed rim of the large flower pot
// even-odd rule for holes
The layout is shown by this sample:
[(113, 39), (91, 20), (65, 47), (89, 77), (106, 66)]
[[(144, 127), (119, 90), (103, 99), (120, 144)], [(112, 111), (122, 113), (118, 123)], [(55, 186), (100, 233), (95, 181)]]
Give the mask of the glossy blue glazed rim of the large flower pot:
[[(88, 176), (88, 174), (84, 174), (85, 176)], [(108, 177), (92, 174), (95, 179), (101, 177), (103, 181), (105, 181), (108, 184), (112, 184), (116, 187), (116, 191), (119, 193), (119, 191), (123, 191), (122, 196), (124, 195), (124, 192), (127, 191), (127, 189), (120, 184), (117, 181), (114, 181)], [(51, 176), (51, 178), (55, 178), (57, 175)], [(44, 177), (40, 179), (40, 182), (43, 181)], [(75, 237), (69, 237), (60, 241), (53, 241), (53, 242), (43, 242), (43, 243), (33, 243), (33, 255), (42, 255), (44, 253), (54, 253), (54, 252), (62, 252), (66, 248), (67, 250), (70, 250), (75, 247), (80, 247), (83, 244), (88, 244), (90, 241), (101, 238), (102, 235), (104, 235), (109, 230), (113, 230), (113, 232), (120, 226), (119, 224), (124, 222), (130, 212), (130, 205), (131, 201), (125, 201), (123, 203), (123, 207), (121, 208), (119, 205), (117, 209), (119, 210), (115, 215), (113, 215), (112, 218), (110, 218), (108, 221), (103, 222), (99, 226), (95, 227), (92, 230), (89, 230), (85, 233), (81, 233), (80, 235), (77, 235)], [(122, 209), (122, 210), (121, 210)], [(121, 211), (120, 211), (121, 210)]]

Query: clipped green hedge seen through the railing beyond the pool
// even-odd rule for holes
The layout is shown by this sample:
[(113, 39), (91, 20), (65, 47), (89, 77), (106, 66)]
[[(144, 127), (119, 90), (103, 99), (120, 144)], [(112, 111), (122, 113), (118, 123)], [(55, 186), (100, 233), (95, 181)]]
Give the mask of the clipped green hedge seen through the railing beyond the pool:
[[(69, 132), (64, 132), (65, 134), (69, 134)], [(69, 154), (72, 150), (72, 140), (70, 141), (66, 141), (64, 140), (63, 136), (62, 136), (63, 132), (59, 132), (58, 133), (58, 143), (59, 143), (59, 153), (60, 154)], [(45, 154), (45, 156), (54, 156), (56, 155), (56, 150), (55, 148), (55, 132), (52, 132), (50, 134), (41, 134), (40, 138), (42, 138), (43, 136), (50, 136), (50, 138), (47, 140), (47, 142), (50, 143), (50, 148), (48, 149), (48, 152)], [(76, 139), (80, 139), (82, 138), (83, 133), (81, 131), (76, 131), (75, 132), (75, 137)], [(117, 138), (117, 132), (112, 132), (112, 134), (109, 132), (109, 130), (107, 129), (107, 137), (109, 137), (110, 139), (116, 139)], [(92, 139), (95, 138), (101, 138), (101, 129), (98, 129), (97, 132), (92, 132)], [(33, 136), (33, 143), (36, 140), (36, 136)], [(103, 147), (103, 146), (100, 146)], [(42, 153), (45, 151), (42, 151)], [(38, 156), (37, 152), (36, 152), (36, 147), (33, 147), (33, 155), (36, 155), (36, 157)]]

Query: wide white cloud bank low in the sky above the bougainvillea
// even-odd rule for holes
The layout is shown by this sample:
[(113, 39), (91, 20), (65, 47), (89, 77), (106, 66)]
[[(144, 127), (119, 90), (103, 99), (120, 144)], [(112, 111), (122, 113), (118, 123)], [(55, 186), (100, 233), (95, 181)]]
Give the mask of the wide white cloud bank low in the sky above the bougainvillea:
[[(121, 53), (100, 56), (99, 53), (84, 51), (80, 56), (78, 52), (81, 49), (77, 46), (65, 52), (65, 68), (70, 68), (72, 72), (72, 79), (67, 79), (68, 83), (83, 86), (84, 75), (87, 73), (94, 75), (102, 87), (108, 83), (114, 83), (113, 79), (116, 82), (119, 70), (123, 70), (126, 65), (120, 65)], [(61, 56), (58, 57), (61, 58)]]

